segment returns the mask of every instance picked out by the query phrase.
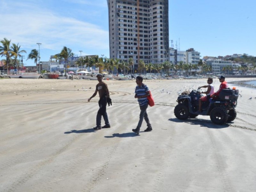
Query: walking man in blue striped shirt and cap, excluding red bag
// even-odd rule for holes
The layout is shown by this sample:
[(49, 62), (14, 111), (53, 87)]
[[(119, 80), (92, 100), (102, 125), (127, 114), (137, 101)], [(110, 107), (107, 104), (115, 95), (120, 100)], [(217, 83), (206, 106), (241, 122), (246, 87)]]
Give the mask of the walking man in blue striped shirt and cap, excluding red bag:
[(134, 98), (138, 99), (139, 105), (140, 105), (140, 120), (139, 123), (136, 127), (136, 129), (132, 129), (133, 132), (138, 133), (140, 132), (140, 127), (143, 122), (143, 119), (145, 119), (147, 123), (147, 129), (145, 129), (145, 132), (152, 131), (152, 127), (150, 124), (150, 121), (148, 119), (148, 114), (147, 114), (147, 108), (148, 108), (148, 99), (147, 97), (149, 96), (149, 89), (148, 86), (142, 83), (143, 77), (137, 76), (136, 77), (136, 88), (135, 88), (135, 96)]

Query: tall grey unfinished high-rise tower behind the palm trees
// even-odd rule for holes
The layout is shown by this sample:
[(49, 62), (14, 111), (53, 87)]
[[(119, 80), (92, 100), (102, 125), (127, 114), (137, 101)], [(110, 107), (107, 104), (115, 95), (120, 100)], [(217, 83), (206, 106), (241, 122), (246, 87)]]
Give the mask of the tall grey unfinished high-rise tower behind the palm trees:
[(110, 58), (169, 61), (168, 0), (107, 0)]

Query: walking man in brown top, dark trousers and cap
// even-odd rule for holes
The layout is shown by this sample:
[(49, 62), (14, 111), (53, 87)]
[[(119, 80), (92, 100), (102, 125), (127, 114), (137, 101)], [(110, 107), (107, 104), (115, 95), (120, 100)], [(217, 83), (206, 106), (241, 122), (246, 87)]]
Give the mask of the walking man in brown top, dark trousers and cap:
[[(93, 93), (92, 97), (88, 99), (88, 102), (90, 102), (90, 100), (97, 95), (97, 92), (99, 92), (100, 109), (98, 110), (97, 116), (96, 116), (96, 127), (93, 127), (93, 129), (100, 130), (101, 128), (110, 128), (110, 124), (108, 121), (108, 114), (107, 114), (107, 103), (110, 98), (109, 98), (108, 85), (102, 81), (103, 79), (102, 74), (98, 74), (96, 77), (99, 83), (96, 85), (96, 90)], [(103, 119), (105, 121), (105, 125), (103, 127), (101, 127), (101, 116), (103, 116)]]

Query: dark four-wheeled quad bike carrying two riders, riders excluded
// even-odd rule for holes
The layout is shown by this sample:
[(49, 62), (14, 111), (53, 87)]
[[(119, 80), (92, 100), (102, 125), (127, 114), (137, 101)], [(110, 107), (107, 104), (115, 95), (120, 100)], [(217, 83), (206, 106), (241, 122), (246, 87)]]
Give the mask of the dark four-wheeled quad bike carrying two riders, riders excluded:
[(178, 119), (195, 118), (198, 115), (210, 116), (215, 124), (225, 124), (236, 118), (236, 105), (239, 90), (222, 89), (218, 98), (211, 98), (202, 102), (202, 112), (198, 111), (199, 98), (203, 96), (198, 90), (189, 94), (179, 95), (178, 105), (174, 108), (174, 115)]

